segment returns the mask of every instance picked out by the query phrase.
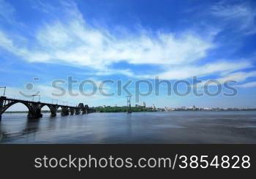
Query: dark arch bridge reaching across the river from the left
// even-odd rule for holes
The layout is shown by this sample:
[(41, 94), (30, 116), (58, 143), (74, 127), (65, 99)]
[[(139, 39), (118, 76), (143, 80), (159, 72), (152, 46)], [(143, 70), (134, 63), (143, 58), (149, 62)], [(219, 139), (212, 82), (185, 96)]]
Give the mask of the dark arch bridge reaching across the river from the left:
[(88, 114), (88, 113), (94, 113), (95, 110), (93, 108), (90, 108), (88, 105), (84, 105), (83, 103), (78, 104), (76, 107), (68, 106), (68, 105), (60, 105), (60, 104), (50, 104), (50, 103), (44, 103), (44, 102), (32, 102), (32, 101), (26, 101), (21, 99), (11, 99), (7, 98), (6, 96), (0, 97), (0, 121), (1, 121), (1, 115), (13, 104), (21, 103), (24, 104), (28, 109), (28, 118), (35, 119), (35, 118), (42, 118), (42, 107), (48, 106), (50, 109), (50, 116), (55, 117), (57, 110), (59, 107), (61, 107), (61, 115), (79, 115), (82, 114)]

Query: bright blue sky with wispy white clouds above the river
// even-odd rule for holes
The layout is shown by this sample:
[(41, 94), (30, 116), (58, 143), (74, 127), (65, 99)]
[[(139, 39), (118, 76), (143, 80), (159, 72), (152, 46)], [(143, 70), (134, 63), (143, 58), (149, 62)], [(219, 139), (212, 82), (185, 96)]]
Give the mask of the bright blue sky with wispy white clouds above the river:
[[(55, 98), (51, 82), (68, 76), (97, 83), (197, 76), (221, 83), (236, 80), (238, 95), (166, 96), (163, 86), (159, 96), (142, 97), (140, 103), (256, 107), (255, 40), (255, 1), (0, 0), (0, 84), (9, 96), (21, 97), (18, 91), (31, 94), (24, 85), (33, 83), (49, 102)], [(108, 84), (105, 91), (116, 87)], [(126, 102), (125, 94), (99, 93), (67, 94), (61, 100), (90, 106)]]

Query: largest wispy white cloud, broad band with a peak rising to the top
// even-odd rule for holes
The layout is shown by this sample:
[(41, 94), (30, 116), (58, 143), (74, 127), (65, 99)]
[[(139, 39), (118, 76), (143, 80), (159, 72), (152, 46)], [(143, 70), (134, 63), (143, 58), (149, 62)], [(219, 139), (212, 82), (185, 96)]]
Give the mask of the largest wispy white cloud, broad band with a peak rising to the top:
[[(17, 47), (15, 40), (1, 32), (5, 50), (30, 62), (64, 62), (106, 69), (118, 61), (130, 64), (183, 64), (206, 57), (214, 47), (212, 35), (200, 37), (192, 32), (157, 32), (144, 29), (138, 35), (117, 38), (113, 31), (89, 26), (75, 4), (64, 4), (67, 18), (45, 23), (35, 34), (34, 48)], [(64, 8), (65, 9), (65, 8)], [(121, 34), (118, 34), (121, 37)]]

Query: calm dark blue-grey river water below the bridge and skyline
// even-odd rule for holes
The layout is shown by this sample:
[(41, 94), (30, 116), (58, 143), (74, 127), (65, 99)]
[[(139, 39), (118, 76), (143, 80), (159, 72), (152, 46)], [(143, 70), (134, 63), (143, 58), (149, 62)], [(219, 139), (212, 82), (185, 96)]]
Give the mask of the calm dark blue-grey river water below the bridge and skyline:
[(1, 143), (256, 143), (256, 112), (4, 114)]

